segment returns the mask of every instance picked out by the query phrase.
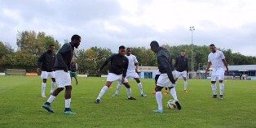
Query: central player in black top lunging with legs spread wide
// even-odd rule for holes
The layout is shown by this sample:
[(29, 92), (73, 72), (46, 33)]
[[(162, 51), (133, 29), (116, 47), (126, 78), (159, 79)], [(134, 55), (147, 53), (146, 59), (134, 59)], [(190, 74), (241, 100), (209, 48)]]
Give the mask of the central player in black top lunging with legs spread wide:
[(128, 100), (136, 100), (134, 97), (131, 96), (130, 84), (126, 79), (126, 72), (129, 60), (128, 58), (126, 58), (125, 54), (126, 47), (121, 45), (119, 47), (118, 53), (113, 54), (104, 62), (103, 66), (99, 68), (98, 73), (101, 74), (102, 70), (104, 69), (104, 66), (106, 66), (108, 62), (111, 62), (107, 83), (104, 87), (102, 87), (101, 91), (99, 92), (99, 96), (95, 100), (95, 104), (99, 104), (101, 97), (104, 96), (104, 93), (108, 90), (113, 81), (118, 81), (119, 83), (123, 83), (126, 86)]

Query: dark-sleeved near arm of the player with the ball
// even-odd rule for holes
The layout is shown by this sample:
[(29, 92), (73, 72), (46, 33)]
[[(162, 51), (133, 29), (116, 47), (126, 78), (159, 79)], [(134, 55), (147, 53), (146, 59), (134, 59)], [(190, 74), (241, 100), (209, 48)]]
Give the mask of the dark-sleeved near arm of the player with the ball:
[(158, 59), (158, 62), (160, 62), (160, 65), (163, 66), (163, 68), (165, 68), (168, 78), (170, 79), (170, 82), (175, 83), (174, 76), (172, 74), (172, 71), (170, 70), (170, 64), (167, 61), (166, 57), (164, 55), (161, 55), (161, 56), (158, 56), (157, 59)]

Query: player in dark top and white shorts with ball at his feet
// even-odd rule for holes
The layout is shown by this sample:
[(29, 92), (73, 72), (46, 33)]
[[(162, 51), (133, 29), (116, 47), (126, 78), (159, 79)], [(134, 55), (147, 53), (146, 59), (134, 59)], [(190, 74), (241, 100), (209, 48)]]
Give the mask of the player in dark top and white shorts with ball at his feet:
[(170, 94), (174, 97), (175, 104), (177, 109), (182, 109), (179, 104), (178, 97), (175, 90), (175, 79), (174, 79), (174, 66), (172, 64), (172, 58), (170, 57), (170, 52), (166, 48), (162, 48), (158, 45), (157, 41), (152, 41), (150, 43), (151, 50), (154, 53), (157, 53), (157, 65), (158, 69), (161, 72), (161, 75), (157, 79), (156, 87), (156, 100), (158, 109), (154, 110), (156, 113), (163, 113), (162, 107), (162, 95), (161, 89), (163, 87), (170, 87)]

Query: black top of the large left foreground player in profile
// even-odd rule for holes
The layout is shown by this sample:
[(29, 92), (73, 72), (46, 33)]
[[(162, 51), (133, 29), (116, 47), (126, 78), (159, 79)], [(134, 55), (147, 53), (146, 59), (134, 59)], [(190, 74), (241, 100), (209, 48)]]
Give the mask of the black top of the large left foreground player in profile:
[(72, 43), (64, 44), (60, 51), (56, 54), (55, 70), (70, 70), (71, 59), (73, 58), (74, 46)]

